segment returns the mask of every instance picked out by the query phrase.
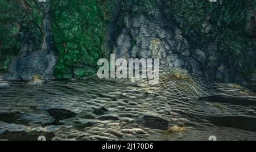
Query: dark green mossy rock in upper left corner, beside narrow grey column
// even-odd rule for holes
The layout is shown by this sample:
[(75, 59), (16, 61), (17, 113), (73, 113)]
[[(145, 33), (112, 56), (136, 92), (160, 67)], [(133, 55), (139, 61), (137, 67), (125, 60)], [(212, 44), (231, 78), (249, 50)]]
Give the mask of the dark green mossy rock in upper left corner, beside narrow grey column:
[(36, 37), (32, 46), (40, 47), (43, 12), (34, 0), (2, 0), (0, 10), (0, 71), (6, 71), (28, 35)]

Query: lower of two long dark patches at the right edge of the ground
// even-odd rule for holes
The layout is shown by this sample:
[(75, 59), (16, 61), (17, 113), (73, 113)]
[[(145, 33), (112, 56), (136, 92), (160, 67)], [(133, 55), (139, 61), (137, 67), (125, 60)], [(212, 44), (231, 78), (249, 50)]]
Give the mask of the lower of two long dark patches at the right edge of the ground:
[(210, 123), (219, 126), (256, 131), (256, 117), (246, 116), (216, 116), (210, 117)]

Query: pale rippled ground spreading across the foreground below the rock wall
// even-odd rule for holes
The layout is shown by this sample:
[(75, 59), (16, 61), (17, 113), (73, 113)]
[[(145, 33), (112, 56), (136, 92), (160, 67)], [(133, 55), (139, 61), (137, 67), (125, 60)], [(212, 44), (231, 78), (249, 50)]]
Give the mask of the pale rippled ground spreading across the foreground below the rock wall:
[(246, 88), (177, 78), (168, 69), (160, 71), (159, 85), (96, 77), (11, 82), (0, 89), (0, 139), (255, 140), (255, 111), (256, 95)]

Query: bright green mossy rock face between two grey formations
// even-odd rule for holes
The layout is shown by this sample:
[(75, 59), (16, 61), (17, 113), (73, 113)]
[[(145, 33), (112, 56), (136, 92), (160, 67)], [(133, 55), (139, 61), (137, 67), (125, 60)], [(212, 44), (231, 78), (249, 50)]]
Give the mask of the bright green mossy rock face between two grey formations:
[[(97, 67), (104, 54), (105, 8), (103, 1), (51, 1), (52, 29), (59, 62), (57, 78), (69, 79), (73, 74), (86, 77), (80, 66)], [(67, 71), (68, 69), (68, 71)]]

